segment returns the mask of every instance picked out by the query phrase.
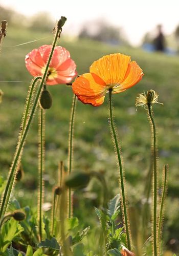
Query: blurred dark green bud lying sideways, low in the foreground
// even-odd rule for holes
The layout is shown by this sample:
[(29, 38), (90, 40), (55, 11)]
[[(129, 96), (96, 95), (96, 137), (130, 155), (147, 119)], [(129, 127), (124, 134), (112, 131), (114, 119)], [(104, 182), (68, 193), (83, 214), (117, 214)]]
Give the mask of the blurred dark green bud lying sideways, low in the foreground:
[(65, 185), (68, 187), (86, 187), (91, 176), (88, 173), (71, 173), (65, 179)]

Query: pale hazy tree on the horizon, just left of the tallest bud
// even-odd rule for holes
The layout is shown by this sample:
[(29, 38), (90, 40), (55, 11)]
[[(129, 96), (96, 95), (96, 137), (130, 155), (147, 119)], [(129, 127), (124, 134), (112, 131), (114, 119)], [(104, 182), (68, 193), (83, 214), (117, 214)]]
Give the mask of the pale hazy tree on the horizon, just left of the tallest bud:
[(54, 28), (54, 21), (46, 12), (39, 12), (31, 17), (30, 28), (33, 30), (50, 31)]

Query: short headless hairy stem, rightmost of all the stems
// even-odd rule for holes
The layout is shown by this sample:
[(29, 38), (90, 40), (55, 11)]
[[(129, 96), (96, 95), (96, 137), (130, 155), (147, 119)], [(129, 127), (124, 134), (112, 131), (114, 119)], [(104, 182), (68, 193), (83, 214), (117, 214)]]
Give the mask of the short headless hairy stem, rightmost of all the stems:
[(160, 239), (161, 239), (161, 233), (162, 233), (161, 229), (162, 229), (162, 220), (163, 220), (164, 201), (165, 201), (166, 190), (167, 190), (167, 172), (168, 172), (167, 165), (164, 165), (163, 172), (164, 172), (163, 173), (163, 189), (162, 189), (162, 198), (161, 198), (160, 213), (159, 213), (159, 226), (158, 226), (158, 244), (159, 245), (160, 245)]

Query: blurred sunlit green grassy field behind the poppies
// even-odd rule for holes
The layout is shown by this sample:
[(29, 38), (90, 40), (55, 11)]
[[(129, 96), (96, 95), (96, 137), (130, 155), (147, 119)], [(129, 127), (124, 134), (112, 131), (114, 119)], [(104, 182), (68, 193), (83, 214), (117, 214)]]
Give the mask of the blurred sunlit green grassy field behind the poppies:
[[(39, 38), (41, 39), (24, 44)], [(0, 53), (0, 89), (4, 92), (3, 102), (0, 105), (0, 169), (4, 177), (7, 177), (13, 157), (20, 118), (32, 79), (25, 67), (25, 55), (43, 44), (50, 44), (52, 40), (53, 35), (50, 33), (39, 34), (24, 28), (8, 28)], [(99, 57), (116, 52), (131, 55), (131, 59), (136, 60), (145, 73), (142, 81), (135, 87), (113, 96), (116, 125), (125, 165), (129, 205), (131, 209), (135, 206), (139, 212), (146, 197), (145, 187), (148, 182), (146, 177), (150, 164), (151, 138), (146, 111), (142, 108), (136, 111), (135, 99), (138, 93), (149, 89), (159, 93), (159, 101), (164, 105), (156, 104), (153, 110), (158, 124), (160, 180), (163, 164), (169, 164), (164, 237), (166, 248), (177, 251), (179, 247), (179, 58), (162, 53), (146, 53), (140, 49), (111, 47), (94, 41), (72, 41), (63, 36), (59, 45), (70, 51), (77, 63), (79, 74), (88, 72), (91, 63)], [(68, 160), (69, 118), (73, 97), (71, 87), (65, 85), (49, 87), (49, 90), (53, 95), (53, 106), (46, 113), (46, 202), (51, 201), (49, 191), (55, 185), (59, 161), (63, 160), (66, 164)], [(104, 104), (99, 107), (77, 103), (74, 170), (96, 170), (104, 173), (109, 198), (111, 198), (119, 193), (119, 188), (115, 154), (108, 128), (107, 96)], [(36, 205), (37, 130), (38, 117), (36, 115), (22, 160), (25, 176), (14, 190), (14, 196), (20, 201), (21, 206), (27, 203), (30, 206)], [(88, 189), (93, 191), (93, 194), (85, 193), (83, 196), (80, 193), (76, 194), (76, 200), (79, 201), (78, 204), (83, 207), (83, 210), (76, 209), (75, 212), (86, 225), (93, 225), (95, 216), (95, 213), (92, 213), (93, 205), (99, 203), (97, 195), (100, 185), (94, 181)], [(89, 207), (92, 208), (89, 209)]]

